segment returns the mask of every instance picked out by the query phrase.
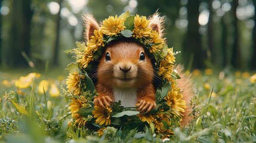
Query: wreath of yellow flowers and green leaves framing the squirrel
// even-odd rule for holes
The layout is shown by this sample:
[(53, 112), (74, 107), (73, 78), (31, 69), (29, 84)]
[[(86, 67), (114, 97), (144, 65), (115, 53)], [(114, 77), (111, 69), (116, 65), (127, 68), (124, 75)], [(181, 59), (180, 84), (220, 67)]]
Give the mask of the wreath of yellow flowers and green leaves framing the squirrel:
[[(162, 83), (159, 83), (156, 90), (156, 108), (150, 113), (140, 113), (135, 107), (122, 107), (120, 102), (106, 108), (93, 104), (97, 92), (87, 71), (95, 66), (93, 61), (100, 58), (104, 46), (124, 37), (134, 38), (143, 44), (155, 58), (156, 72)], [(100, 29), (94, 30), (90, 41), (76, 42), (76, 46), (67, 51), (75, 54), (76, 58), (74, 63), (67, 66), (69, 76), (66, 85), (71, 101), (68, 108), (73, 117), (70, 126), (85, 127), (92, 132), (98, 130), (98, 134), (102, 135), (107, 126), (143, 131), (146, 125), (163, 138), (171, 136), (172, 129), (180, 126), (186, 101), (182, 100), (183, 91), (175, 81), (179, 78), (173, 70), (177, 52), (168, 48), (165, 39), (150, 27), (150, 20), (144, 16), (130, 15), (129, 11), (119, 17), (110, 16), (103, 20)]]

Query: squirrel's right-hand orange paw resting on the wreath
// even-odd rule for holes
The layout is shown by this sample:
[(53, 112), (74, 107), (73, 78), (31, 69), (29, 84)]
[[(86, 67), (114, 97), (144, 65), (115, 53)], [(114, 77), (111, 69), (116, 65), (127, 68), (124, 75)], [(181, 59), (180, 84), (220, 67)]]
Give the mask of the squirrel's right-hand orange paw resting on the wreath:
[(156, 102), (153, 100), (140, 100), (136, 105), (137, 111), (146, 113), (156, 108)]

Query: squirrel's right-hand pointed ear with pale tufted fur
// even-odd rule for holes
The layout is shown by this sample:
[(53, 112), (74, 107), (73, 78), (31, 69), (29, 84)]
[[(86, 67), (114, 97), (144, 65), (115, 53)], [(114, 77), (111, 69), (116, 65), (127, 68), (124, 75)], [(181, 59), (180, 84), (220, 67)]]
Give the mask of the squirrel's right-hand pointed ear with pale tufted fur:
[(161, 38), (164, 36), (164, 22), (165, 22), (165, 17), (161, 17), (160, 13), (156, 11), (155, 14), (149, 17), (150, 20), (150, 27), (152, 27), (153, 30), (159, 33)]

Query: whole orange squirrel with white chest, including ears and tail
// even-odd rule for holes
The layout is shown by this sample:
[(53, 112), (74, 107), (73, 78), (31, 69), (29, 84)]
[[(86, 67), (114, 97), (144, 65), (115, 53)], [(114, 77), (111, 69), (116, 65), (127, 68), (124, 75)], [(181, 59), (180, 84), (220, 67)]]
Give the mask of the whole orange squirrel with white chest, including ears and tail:
[[(84, 38), (90, 41), (94, 30), (100, 29), (97, 21), (91, 14), (85, 14)], [(150, 26), (153, 30), (164, 36), (164, 17), (159, 13), (150, 18)], [(132, 38), (123, 38), (110, 42), (104, 46), (103, 54), (98, 61), (95, 81), (95, 89), (98, 96), (94, 98), (94, 105), (109, 107), (113, 102), (121, 101), (124, 107), (137, 107), (137, 111), (147, 113), (156, 107), (154, 85), (154, 67), (152, 58), (146, 52), (146, 48)], [(177, 79), (178, 86), (183, 92), (183, 100), (187, 108), (183, 114), (182, 125), (190, 122), (190, 99), (193, 95), (192, 80), (182, 73), (183, 66), (174, 67), (181, 79)]]

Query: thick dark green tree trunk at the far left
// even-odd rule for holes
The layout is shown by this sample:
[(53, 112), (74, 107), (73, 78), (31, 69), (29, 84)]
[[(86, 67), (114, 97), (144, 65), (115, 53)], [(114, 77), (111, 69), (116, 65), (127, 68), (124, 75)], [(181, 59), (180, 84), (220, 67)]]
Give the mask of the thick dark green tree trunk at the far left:
[(12, 1), (10, 47), (5, 53), (7, 64), (11, 67), (29, 66), (21, 52), (25, 52), (30, 57), (30, 24), (32, 18), (30, 4), (30, 0)]

